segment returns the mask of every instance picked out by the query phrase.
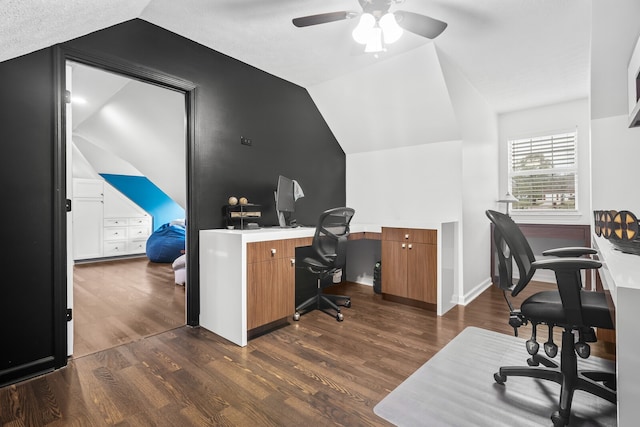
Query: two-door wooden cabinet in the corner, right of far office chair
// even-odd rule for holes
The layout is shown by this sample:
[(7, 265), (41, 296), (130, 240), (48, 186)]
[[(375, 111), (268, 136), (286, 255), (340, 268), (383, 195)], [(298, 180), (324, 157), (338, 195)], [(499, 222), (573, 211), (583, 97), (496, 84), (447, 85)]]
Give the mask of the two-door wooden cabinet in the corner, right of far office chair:
[(382, 228), (382, 293), (437, 303), (437, 231)]

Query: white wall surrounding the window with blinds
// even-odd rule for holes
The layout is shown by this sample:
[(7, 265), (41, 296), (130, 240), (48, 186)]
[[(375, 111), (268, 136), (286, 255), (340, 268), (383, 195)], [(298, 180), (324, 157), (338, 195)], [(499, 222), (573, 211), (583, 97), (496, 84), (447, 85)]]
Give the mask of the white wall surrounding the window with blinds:
[[(589, 224), (591, 220), (589, 100), (584, 98), (501, 114), (498, 117), (498, 129), (499, 194), (501, 196), (507, 192), (508, 188), (508, 140), (577, 130), (579, 212), (532, 214), (512, 211), (512, 217), (516, 222), (522, 223)], [(500, 208), (505, 209), (504, 205)]]

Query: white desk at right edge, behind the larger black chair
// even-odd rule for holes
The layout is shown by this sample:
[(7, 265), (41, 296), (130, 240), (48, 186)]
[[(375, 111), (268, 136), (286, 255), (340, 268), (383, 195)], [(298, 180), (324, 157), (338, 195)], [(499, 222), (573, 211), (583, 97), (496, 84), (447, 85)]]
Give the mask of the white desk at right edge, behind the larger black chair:
[(600, 278), (616, 308), (616, 372), (618, 425), (636, 426), (640, 419), (640, 256), (613, 248), (594, 236), (603, 263)]

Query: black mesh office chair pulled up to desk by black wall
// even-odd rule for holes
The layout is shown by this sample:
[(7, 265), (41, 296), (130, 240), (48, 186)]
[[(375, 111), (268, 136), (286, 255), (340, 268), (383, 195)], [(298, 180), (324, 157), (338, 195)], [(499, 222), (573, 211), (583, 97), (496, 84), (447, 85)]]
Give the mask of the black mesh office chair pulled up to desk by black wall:
[(351, 307), (351, 299), (346, 295), (324, 294), (322, 281), (345, 265), (349, 223), (354, 214), (355, 210), (342, 207), (329, 209), (320, 215), (311, 244), (313, 255), (305, 257), (298, 265), (316, 276), (316, 294), (296, 307), (293, 320), (300, 320), (301, 314), (318, 309), (341, 322), (344, 317), (338, 305)]

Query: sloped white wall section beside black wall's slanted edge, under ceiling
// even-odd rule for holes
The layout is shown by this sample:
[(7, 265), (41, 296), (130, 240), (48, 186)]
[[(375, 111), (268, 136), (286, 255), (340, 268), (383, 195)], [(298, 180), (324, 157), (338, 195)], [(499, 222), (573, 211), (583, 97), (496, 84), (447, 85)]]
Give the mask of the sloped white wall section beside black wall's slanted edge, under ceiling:
[(346, 154), (460, 139), (433, 43), (307, 90)]

